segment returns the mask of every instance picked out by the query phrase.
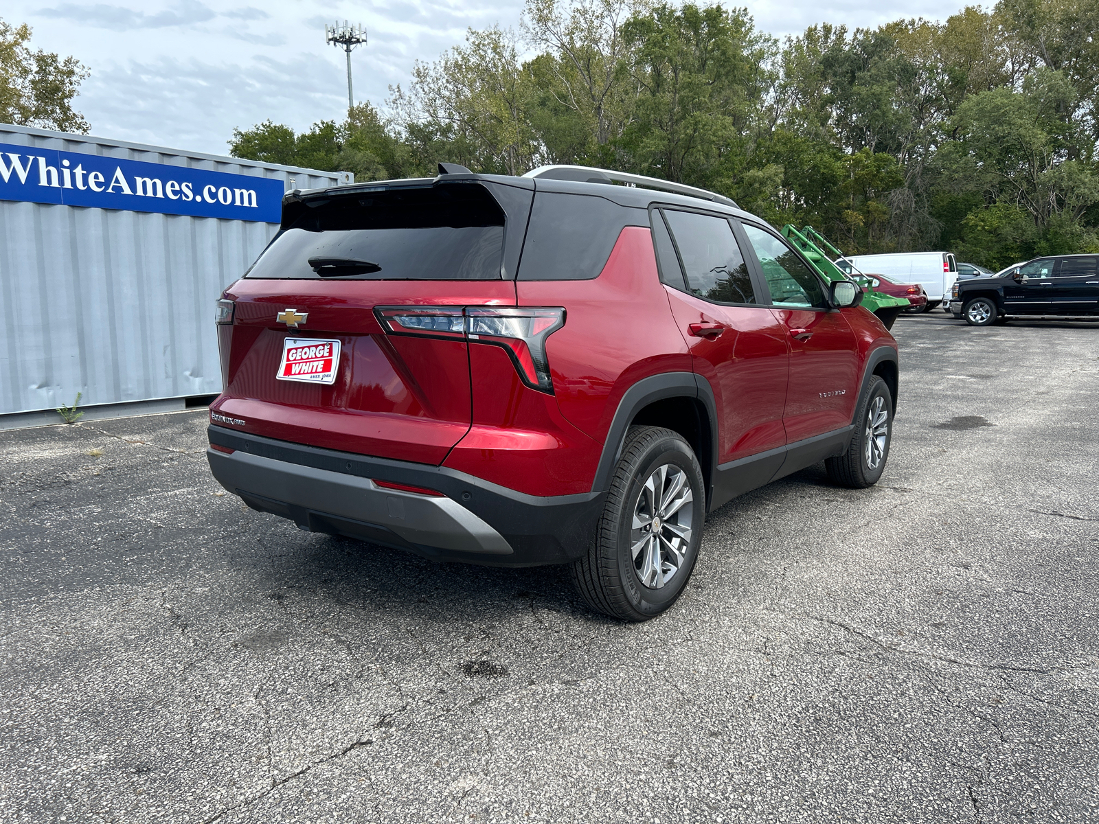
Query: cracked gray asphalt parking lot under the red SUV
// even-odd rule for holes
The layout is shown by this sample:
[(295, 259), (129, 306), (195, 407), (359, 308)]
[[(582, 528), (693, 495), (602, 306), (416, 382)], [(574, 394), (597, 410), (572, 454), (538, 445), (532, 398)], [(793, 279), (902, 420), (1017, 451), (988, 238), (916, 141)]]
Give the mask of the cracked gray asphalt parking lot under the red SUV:
[(1099, 324), (893, 332), (879, 485), (640, 625), (247, 510), (204, 410), (0, 433), (0, 820), (1099, 820)]

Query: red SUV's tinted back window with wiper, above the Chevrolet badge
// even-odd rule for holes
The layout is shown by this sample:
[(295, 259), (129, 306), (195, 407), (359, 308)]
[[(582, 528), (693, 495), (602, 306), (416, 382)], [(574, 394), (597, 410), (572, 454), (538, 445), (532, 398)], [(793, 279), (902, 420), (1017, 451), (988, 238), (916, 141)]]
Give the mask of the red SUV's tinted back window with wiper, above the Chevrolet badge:
[(306, 201), (245, 277), (498, 280), (503, 225), (475, 183)]

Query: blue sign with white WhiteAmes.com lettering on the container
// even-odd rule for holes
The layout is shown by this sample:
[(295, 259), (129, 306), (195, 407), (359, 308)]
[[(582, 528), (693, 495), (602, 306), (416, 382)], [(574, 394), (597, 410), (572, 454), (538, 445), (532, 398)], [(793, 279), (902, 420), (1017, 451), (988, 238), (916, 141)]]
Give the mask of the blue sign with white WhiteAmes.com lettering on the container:
[(279, 179), (0, 143), (0, 200), (278, 223)]

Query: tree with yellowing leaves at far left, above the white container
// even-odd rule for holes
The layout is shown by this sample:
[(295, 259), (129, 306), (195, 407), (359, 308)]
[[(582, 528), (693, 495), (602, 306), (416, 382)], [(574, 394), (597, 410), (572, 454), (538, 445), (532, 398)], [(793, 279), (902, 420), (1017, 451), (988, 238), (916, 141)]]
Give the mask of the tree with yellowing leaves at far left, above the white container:
[(27, 45), (31, 27), (0, 20), (0, 122), (88, 133), (73, 99), (88, 70), (75, 57), (58, 57)]

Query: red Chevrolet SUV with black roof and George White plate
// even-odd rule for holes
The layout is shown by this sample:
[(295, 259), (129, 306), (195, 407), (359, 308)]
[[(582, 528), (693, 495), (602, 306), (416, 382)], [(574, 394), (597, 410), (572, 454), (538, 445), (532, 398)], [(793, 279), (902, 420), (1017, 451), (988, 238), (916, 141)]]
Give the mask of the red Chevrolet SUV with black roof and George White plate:
[(302, 530), (570, 564), (593, 609), (648, 619), (707, 512), (820, 460), (880, 477), (897, 345), (862, 294), (645, 177), (441, 164), (293, 191), (219, 301), (210, 467)]

